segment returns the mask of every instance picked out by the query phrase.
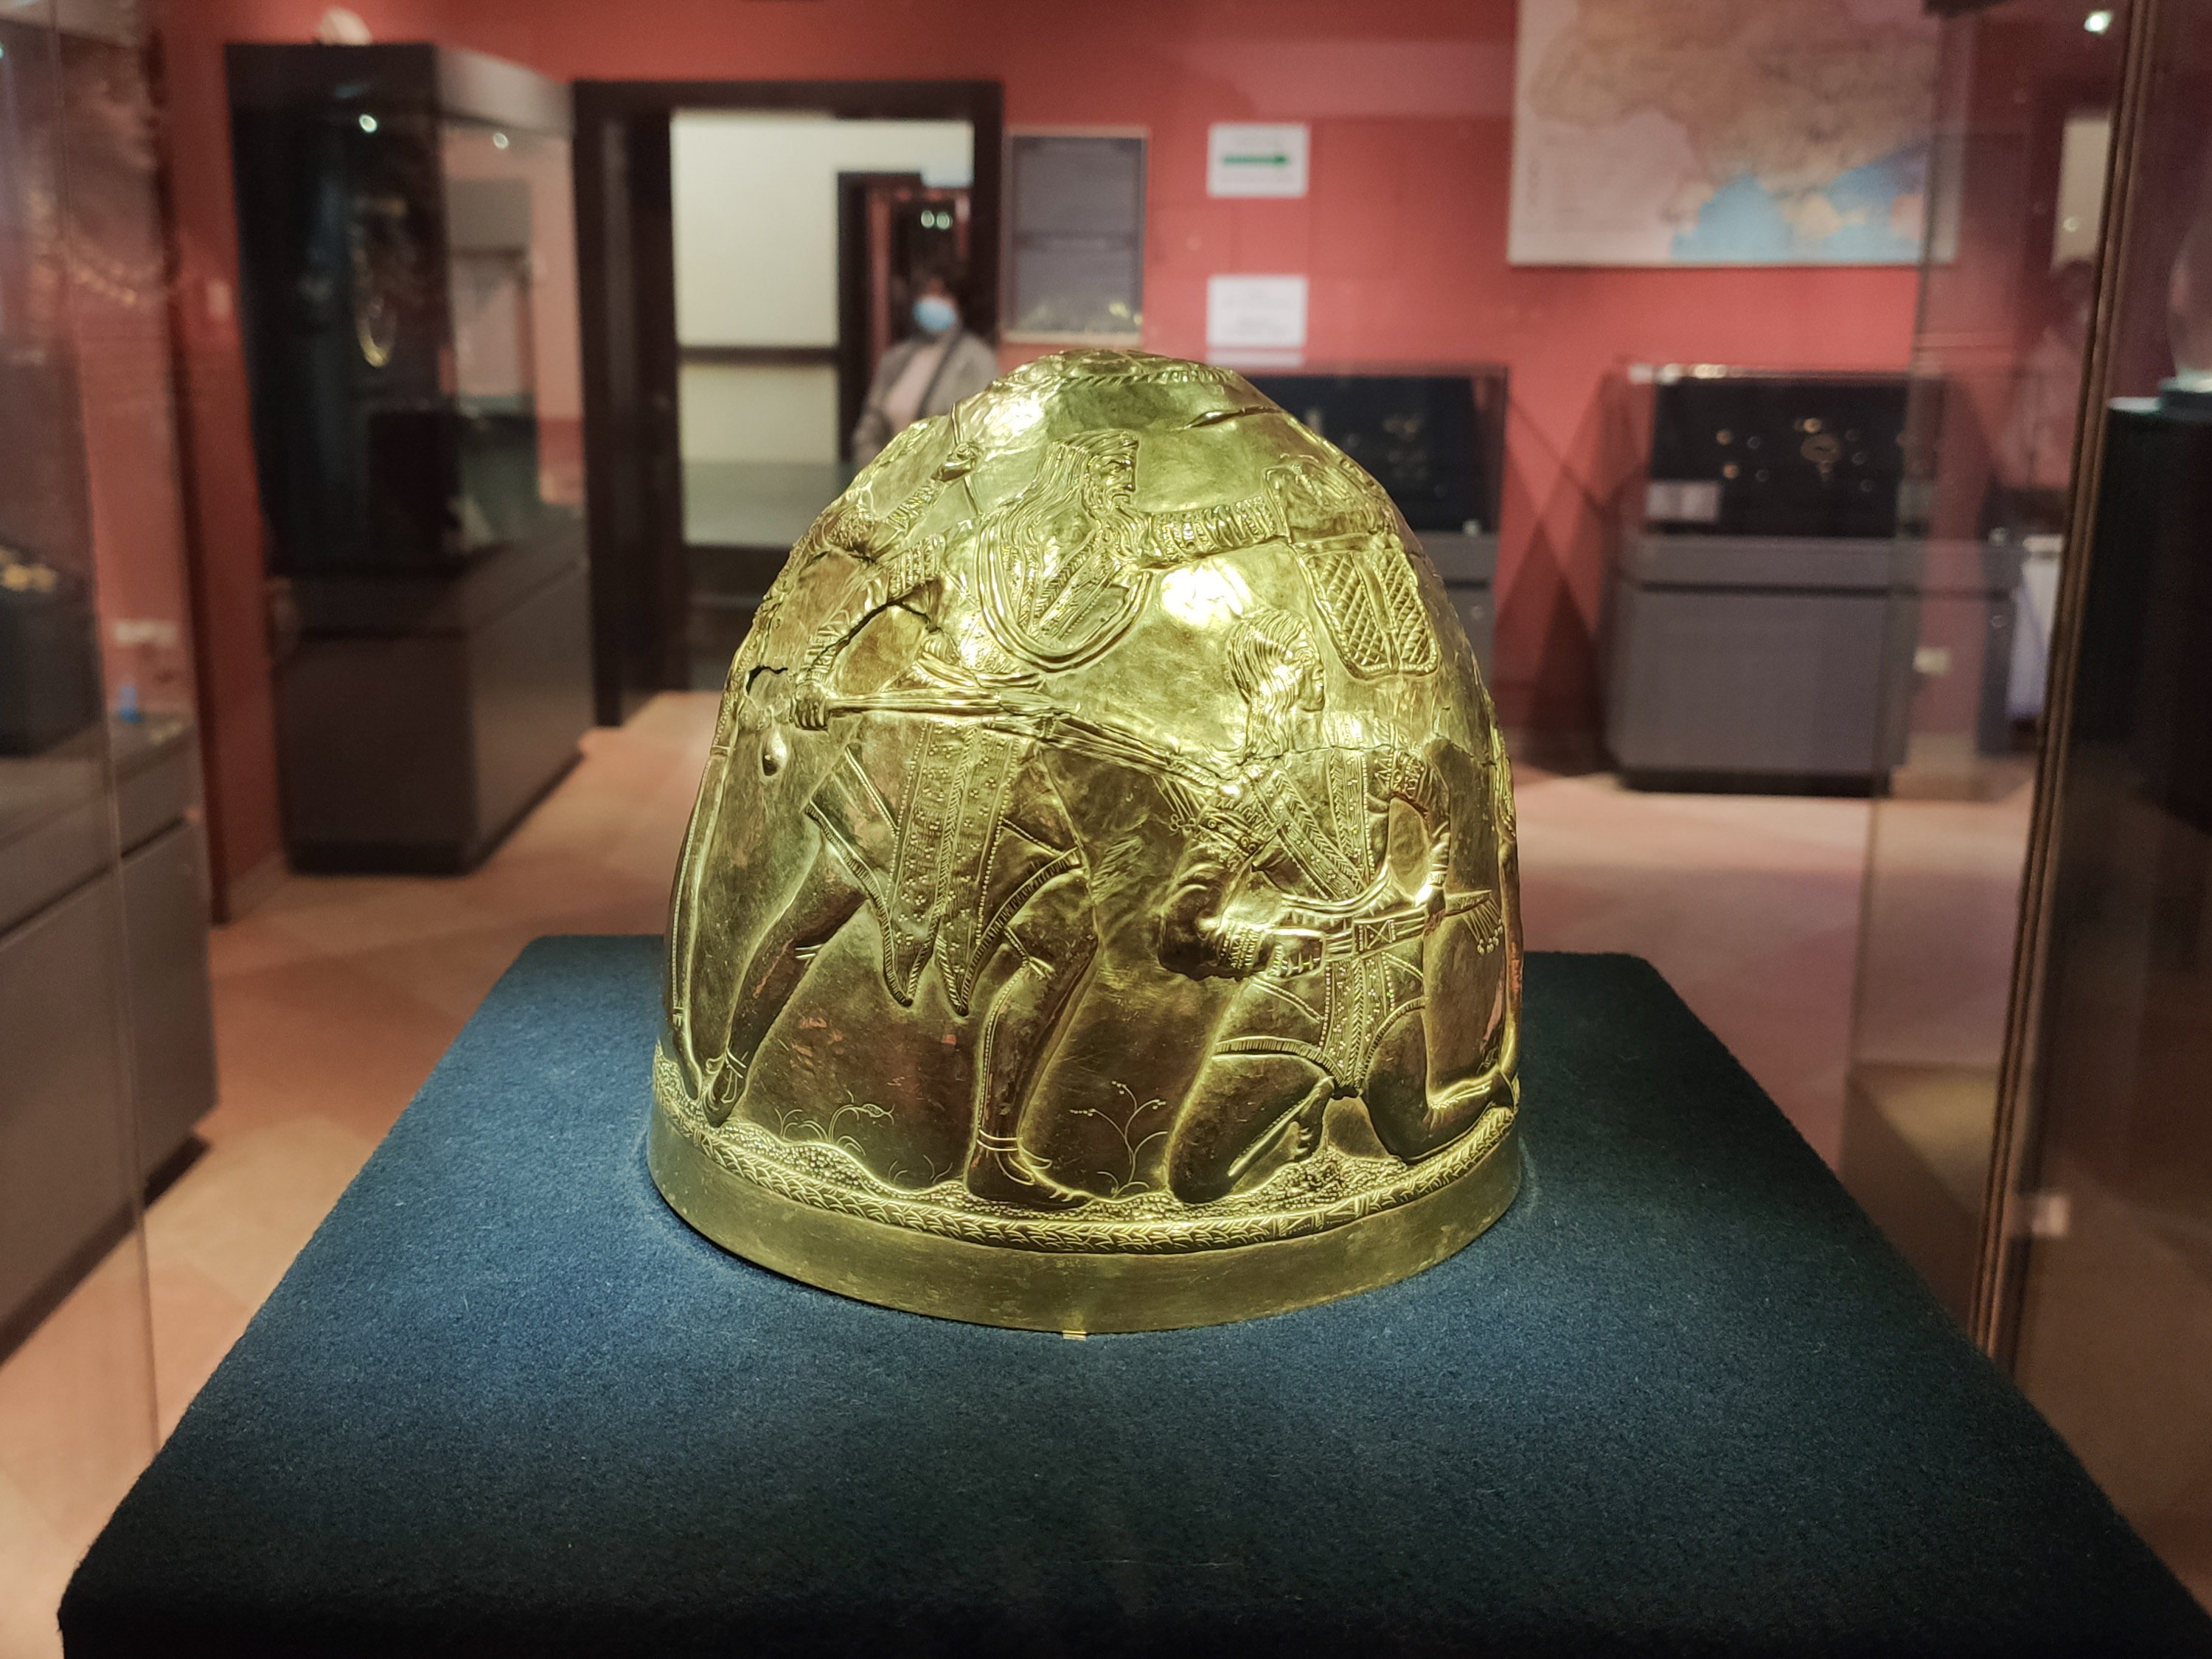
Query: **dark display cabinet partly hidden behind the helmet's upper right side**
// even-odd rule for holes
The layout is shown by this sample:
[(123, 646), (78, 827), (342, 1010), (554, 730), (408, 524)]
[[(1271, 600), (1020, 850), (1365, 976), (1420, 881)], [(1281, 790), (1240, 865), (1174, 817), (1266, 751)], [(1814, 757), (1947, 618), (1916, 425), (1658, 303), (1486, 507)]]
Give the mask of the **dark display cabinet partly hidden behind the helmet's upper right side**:
[(1254, 372), (1252, 385), (1383, 484), (1444, 577), (1475, 661), (1489, 672), (1498, 635), (1506, 367), (1321, 363), (1296, 374)]

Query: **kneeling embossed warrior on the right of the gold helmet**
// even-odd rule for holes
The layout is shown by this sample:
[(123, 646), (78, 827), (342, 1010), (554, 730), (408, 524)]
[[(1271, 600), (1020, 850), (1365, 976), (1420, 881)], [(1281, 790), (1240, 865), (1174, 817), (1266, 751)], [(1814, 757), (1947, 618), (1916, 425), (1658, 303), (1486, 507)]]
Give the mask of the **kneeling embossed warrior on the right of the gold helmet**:
[[(1383, 1146), (1411, 1164), (1511, 1097), (1509, 1029), (1480, 1006), (1431, 1013), (1427, 998), (1447, 956), (1491, 956), (1504, 938), (1495, 891), (1447, 891), (1453, 823), (1436, 761), (1316, 741), (1321, 661), (1283, 611), (1237, 619), (1230, 677), (1248, 708), (1243, 754), (1192, 812), (1159, 931), (1170, 969), (1243, 982), (1168, 1150), (1188, 1203), (1232, 1192), (1272, 1152), (1307, 1157), (1332, 1099), (1360, 1097)], [(1394, 807), (1418, 825), (1411, 858), (1391, 856)]]

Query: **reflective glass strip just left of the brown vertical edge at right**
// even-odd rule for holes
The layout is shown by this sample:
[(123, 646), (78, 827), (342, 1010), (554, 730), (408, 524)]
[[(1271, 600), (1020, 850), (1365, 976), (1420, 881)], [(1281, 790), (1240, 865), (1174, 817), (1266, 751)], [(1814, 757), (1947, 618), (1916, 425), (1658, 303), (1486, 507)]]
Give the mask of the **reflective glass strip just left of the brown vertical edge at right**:
[(1944, 24), (1843, 1175), (1971, 1318), (2121, 35)]

